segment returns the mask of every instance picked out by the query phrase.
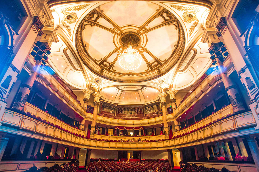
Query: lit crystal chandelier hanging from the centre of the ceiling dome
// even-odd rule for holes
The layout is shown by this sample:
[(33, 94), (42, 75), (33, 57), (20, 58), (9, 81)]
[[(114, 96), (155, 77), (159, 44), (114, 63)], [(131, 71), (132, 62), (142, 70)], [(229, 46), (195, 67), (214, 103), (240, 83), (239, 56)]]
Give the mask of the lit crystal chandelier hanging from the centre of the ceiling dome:
[(123, 51), (123, 53), (119, 54), (119, 65), (126, 72), (134, 72), (141, 65), (142, 58), (139, 52), (132, 49), (132, 46)]

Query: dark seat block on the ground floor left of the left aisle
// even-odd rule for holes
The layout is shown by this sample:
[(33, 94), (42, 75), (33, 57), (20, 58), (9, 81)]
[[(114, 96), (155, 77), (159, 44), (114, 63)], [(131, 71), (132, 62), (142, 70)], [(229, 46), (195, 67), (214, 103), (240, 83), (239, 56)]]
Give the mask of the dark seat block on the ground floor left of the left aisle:
[(79, 161), (72, 161), (71, 163), (64, 163), (61, 165), (55, 164), (52, 167), (42, 167), (37, 170), (37, 167), (31, 167), (24, 172), (78, 172)]

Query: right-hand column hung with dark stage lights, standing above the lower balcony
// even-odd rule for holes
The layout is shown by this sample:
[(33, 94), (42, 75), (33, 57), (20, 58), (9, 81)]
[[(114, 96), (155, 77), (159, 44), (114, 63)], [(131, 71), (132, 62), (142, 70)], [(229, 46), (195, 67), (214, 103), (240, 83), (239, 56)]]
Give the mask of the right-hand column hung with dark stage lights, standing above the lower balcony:
[(228, 56), (228, 52), (224, 47), (224, 44), (222, 42), (211, 43), (209, 51), (210, 54), (212, 54), (211, 59), (216, 60), (216, 63), (218, 64), (222, 81), (224, 83), (224, 86), (228, 93), (228, 97), (233, 107), (233, 112), (236, 113), (244, 111), (245, 108), (243, 106), (241, 95), (237, 90), (237, 85), (234, 82), (232, 82), (232, 80), (224, 72), (223, 61)]

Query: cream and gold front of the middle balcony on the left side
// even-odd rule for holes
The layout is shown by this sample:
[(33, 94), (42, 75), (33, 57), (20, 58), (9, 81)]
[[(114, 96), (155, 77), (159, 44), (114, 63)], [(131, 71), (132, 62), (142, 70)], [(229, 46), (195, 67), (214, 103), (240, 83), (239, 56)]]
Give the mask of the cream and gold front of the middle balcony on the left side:
[[(62, 122), (61, 120), (55, 118), (54, 116), (48, 114), (47, 112), (44, 112), (43, 110), (39, 109), (38, 107), (35, 107), (31, 103), (26, 102), (24, 105), (24, 112), (29, 112), (31, 115), (35, 115), (37, 118), (41, 118), (42, 120), (46, 120), (46, 122), (50, 122), (54, 125), (57, 125), (59, 127), (64, 128), (65, 130), (68, 130), (75, 134), (81, 134), (85, 136), (85, 131), (79, 130), (77, 128), (74, 128), (65, 122)], [(86, 119), (93, 120), (94, 116), (93, 114), (86, 113)]]

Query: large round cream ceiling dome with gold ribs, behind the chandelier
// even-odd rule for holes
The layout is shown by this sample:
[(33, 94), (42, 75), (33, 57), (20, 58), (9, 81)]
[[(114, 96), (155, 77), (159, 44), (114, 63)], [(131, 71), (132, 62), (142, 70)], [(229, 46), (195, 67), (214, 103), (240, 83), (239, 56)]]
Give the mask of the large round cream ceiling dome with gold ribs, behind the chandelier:
[[(179, 60), (184, 33), (167, 9), (148, 1), (112, 1), (88, 13), (79, 24), (76, 47), (88, 69), (119, 82), (140, 82), (167, 73)], [(119, 54), (128, 46), (141, 55), (136, 71), (125, 73)]]

